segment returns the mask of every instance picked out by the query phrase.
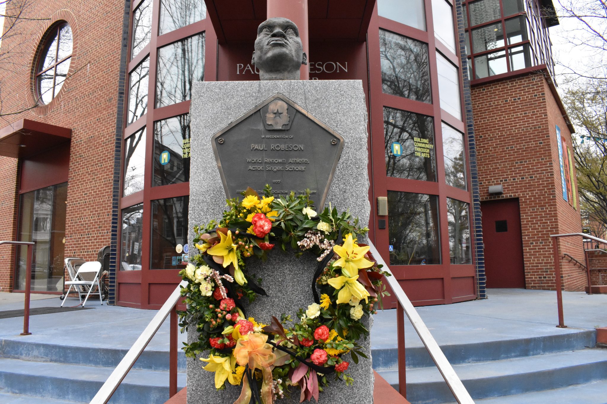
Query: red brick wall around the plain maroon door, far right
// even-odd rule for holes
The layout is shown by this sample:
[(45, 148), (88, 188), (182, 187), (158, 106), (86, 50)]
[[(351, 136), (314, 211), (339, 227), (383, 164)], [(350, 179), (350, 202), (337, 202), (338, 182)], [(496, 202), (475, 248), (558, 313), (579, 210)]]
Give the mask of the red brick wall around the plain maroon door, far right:
[[(481, 200), (519, 199), (525, 283), (530, 289), (555, 287), (549, 236), (582, 229), (579, 213), (561, 196), (554, 125), (569, 142), (571, 133), (556, 106), (542, 73), (472, 87)], [(497, 184), (504, 193), (490, 196), (487, 188)], [(579, 251), (566, 248), (577, 259), (579, 243)], [(583, 288), (580, 271), (566, 260), (562, 263), (566, 290)]]

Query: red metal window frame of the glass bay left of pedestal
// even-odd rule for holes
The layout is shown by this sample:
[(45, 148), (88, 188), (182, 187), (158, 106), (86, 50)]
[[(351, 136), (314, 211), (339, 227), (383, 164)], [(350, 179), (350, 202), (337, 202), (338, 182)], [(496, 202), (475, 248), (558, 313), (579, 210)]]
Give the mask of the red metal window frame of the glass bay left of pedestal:
[[(132, 47), (132, 25), (135, 9), (143, 0), (136, 0), (131, 5), (131, 17), (129, 30), (129, 55), (131, 55)], [(212, 28), (211, 21), (207, 18), (170, 31), (164, 35), (158, 36), (160, 23), (160, 0), (152, 0), (152, 35), (149, 44), (147, 44), (137, 55), (127, 62), (127, 75), (149, 55), (149, 76), (148, 76), (148, 107), (146, 113), (143, 114), (137, 121), (127, 126), (127, 114), (124, 114), (124, 133), (123, 141), (127, 137), (136, 133), (143, 127), (146, 127), (146, 150), (144, 164), (144, 188), (141, 191), (120, 198), (120, 213), (118, 220), (122, 221), (122, 210), (133, 205), (143, 203), (143, 239), (141, 240), (141, 271), (121, 271), (120, 265), (117, 265), (117, 298), (116, 302), (121, 306), (129, 306), (144, 309), (160, 308), (160, 303), (151, 302), (151, 285), (170, 285), (170, 289), (174, 289), (180, 281), (178, 276), (179, 270), (161, 270), (151, 268), (151, 245), (152, 245), (152, 201), (157, 199), (166, 199), (169, 197), (180, 197), (189, 195), (189, 182), (181, 182), (179, 184), (161, 185), (158, 187), (152, 186), (154, 179), (154, 122), (163, 119), (172, 118), (174, 116), (189, 113), (190, 101), (178, 102), (177, 104), (167, 105), (160, 108), (155, 108), (156, 98), (156, 71), (158, 65), (158, 48), (165, 45), (180, 41), (181, 39), (189, 38), (200, 33), (205, 33), (205, 81), (215, 81), (217, 68), (215, 58), (217, 55), (217, 36)], [(125, 100), (125, 105), (128, 105), (129, 100)], [(124, 151), (123, 151), (124, 153)], [(124, 166), (124, 156), (121, 158), (121, 165)], [(121, 167), (121, 173), (124, 173), (124, 167)], [(123, 176), (120, 179), (120, 190), (123, 187)], [(121, 257), (121, 225), (118, 226), (118, 244), (120, 247), (117, 251), (117, 259)], [(140, 285), (139, 303), (125, 302), (121, 300), (120, 284), (135, 283)], [(168, 296), (168, 295), (167, 295)]]

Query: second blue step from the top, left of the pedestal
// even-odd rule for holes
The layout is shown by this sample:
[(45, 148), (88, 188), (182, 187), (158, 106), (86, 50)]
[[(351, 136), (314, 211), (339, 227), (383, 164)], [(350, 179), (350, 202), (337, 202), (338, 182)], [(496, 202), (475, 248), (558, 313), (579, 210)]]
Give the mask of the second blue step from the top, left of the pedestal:
[[(89, 402), (114, 368), (0, 358), (0, 391), (45, 399)], [(177, 386), (186, 375), (177, 374)], [(169, 399), (168, 371), (131, 369), (110, 403), (162, 404)]]

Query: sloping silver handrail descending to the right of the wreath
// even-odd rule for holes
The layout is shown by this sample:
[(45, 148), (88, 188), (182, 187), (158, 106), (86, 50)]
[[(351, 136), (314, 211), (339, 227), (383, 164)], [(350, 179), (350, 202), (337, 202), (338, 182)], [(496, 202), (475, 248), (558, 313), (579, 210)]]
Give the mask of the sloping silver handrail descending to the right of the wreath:
[[(378, 264), (384, 266), (382, 268), (383, 271), (386, 271), (392, 275), (392, 271), (390, 271), (390, 268), (385, 263), (382, 256), (378, 253), (378, 250), (375, 248), (375, 245), (373, 245), (373, 243), (371, 243), (370, 241), (368, 243), (369, 251), (371, 252), (371, 254), (373, 254), (373, 258)], [(409, 317), (409, 320), (413, 325), (415, 331), (418, 333), (421, 342), (424, 344), (424, 346), (426, 346), (430, 357), (432, 357), (432, 360), (436, 364), (436, 368), (438, 368), (438, 371), (441, 373), (441, 375), (443, 375), (443, 379), (445, 379), (445, 382), (447, 382), (447, 386), (449, 386), (449, 389), (453, 393), (453, 397), (455, 397), (459, 404), (473, 404), (474, 401), (472, 400), (472, 397), (470, 397), (470, 394), (466, 390), (466, 387), (464, 387), (464, 384), (461, 382), (461, 380), (459, 380), (459, 377), (453, 370), (453, 366), (451, 366), (449, 360), (447, 360), (447, 357), (441, 350), (440, 346), (438, 346), (438, 343), (436, 343), (436, 340), (434, 339), (434, 337), (432, 337), (432, 334), (430, 334), (430, 330), (428, 329), (424, 321), (421, 319), (421, 317), (419, 317), (417, 310), (415, 310), (415, 307), (413, 307), (411, 300), (409, 300), (407, 294), (405, 294), (404, 290), (402, 290), (402, 287), (401, 285), (399, 285), (398, 280), (396, 280), (394, 276), (386, 276), (385, 279), (387, 280), (388, 285), (390, 285), (390, 288), (392, 288), (392, 291), (396, 295), (396, 299), (398, 299), (399, 305), (402, 307), (405, 314), (407, 314), (407, 317)], [(404, 336), (404, 332), (402, 333), (402, 335)], [(400, 340), (401, 339), (399, 338), (399, 342)], [(399, 374), (404, 374), (404, 365), (404, 360), (402, 360), (402, 364), (401, 360), (399, 360)]]

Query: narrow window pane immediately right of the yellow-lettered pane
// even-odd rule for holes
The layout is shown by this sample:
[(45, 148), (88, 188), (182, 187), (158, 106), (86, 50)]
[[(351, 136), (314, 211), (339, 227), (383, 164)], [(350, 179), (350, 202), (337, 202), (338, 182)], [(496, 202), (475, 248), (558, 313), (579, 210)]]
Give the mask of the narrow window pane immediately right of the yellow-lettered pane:
[(466, 189), (466, 158), (464, 157), (464, 134), (441, 122), (443, 129), (443, 156), (445, 182), (447, 185)]

